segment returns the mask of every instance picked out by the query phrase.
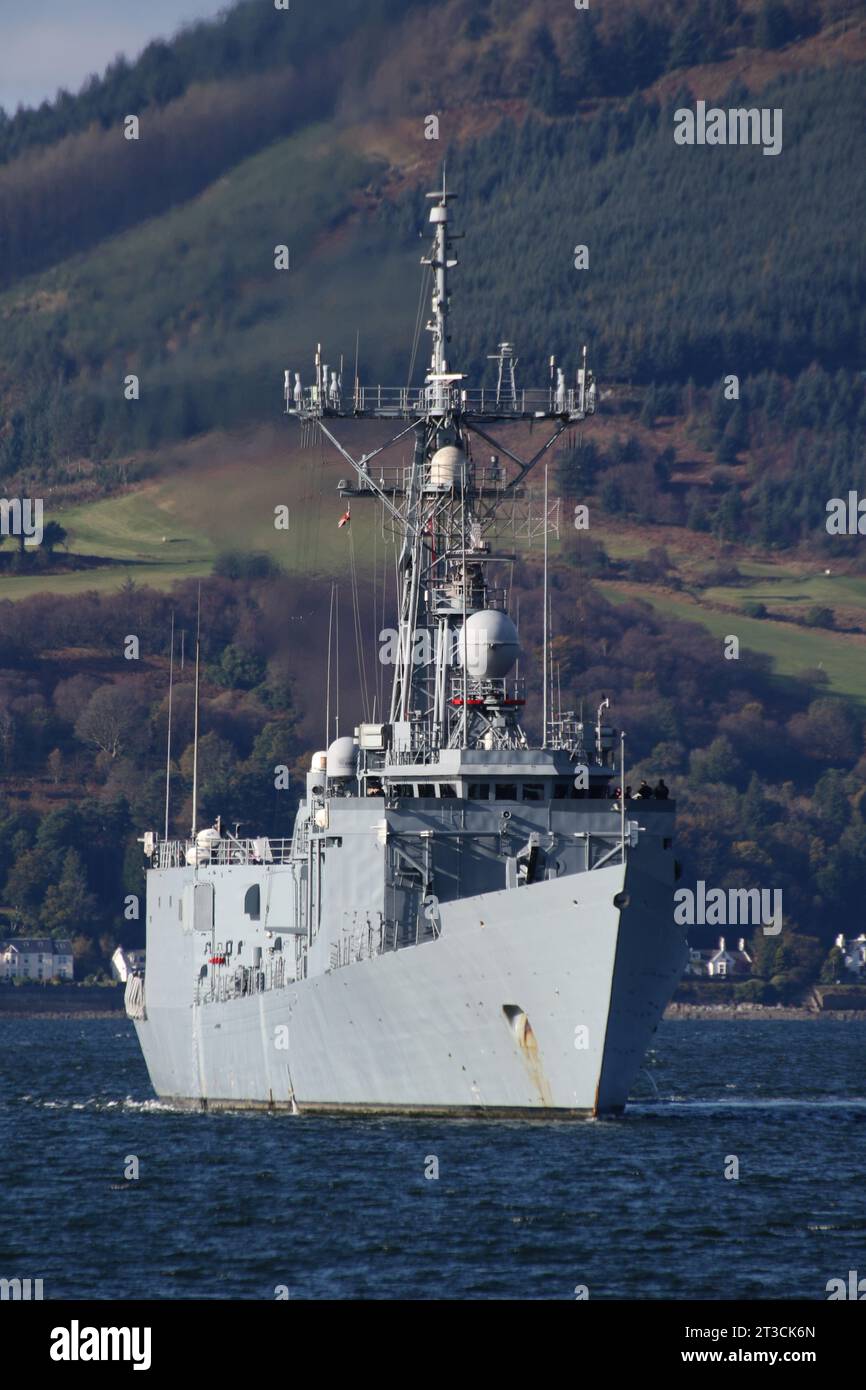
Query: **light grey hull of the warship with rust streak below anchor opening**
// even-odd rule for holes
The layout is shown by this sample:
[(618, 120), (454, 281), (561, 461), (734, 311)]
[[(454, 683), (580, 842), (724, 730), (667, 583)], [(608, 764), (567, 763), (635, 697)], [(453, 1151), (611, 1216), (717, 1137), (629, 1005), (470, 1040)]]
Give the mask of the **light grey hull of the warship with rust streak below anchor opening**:
[(670, 888), (631, 863), (441, 915), (434, 941), (282, 988), (199, 1005), (149, 990), (136, 1029), (157, 1094), (300, 1113), (620, 1113), (684, 965)]

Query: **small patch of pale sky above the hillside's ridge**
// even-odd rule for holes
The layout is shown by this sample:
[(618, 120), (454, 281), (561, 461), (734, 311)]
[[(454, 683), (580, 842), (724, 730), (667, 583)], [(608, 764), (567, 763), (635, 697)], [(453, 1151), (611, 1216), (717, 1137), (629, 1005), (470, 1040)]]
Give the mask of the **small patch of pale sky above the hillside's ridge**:
[(118, 54), (132, 58), (189, 19), (231, 0), (0, 0), (0, 106), (39, 106), (58, 88), (78, 92)]

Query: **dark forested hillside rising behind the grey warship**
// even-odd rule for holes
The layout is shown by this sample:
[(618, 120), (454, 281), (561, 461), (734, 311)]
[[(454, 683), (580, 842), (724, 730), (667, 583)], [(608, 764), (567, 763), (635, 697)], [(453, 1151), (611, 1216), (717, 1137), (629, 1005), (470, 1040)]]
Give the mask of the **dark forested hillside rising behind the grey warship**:
[[(602, 385), (599, 416), (555, 474), (592, 514), (591, 534), (570, 534), (553, 564), (563, 701), (616, 694), (628, 778), (662, 773), (680, 799), (685, 881), (784, 890), (785, 933), (759, 942), (767, 998), (812, 979), (859, 910), (863, 708), (826, 696), (820, 655), (780, 680), (751, 642), (724, 662), (717, 632), (674, 614), (701, 613), (701, 587), (691, 609), (678, 602), (701, 564), (716, 566), (702, 584), (740, 592), (749, 542), (760, 563), (799, 548), (809, 584), (824, 585), (810, 631), (827, 613), (833, 623), (826, 595), (841, 592), (841, 566), (862, 617), (858, 538), (834, 538), (830, 562), (823, 516), (828, 496), (866, 489), (865, 11), (848, 0), (592, 11), (292, 0), (277, 13), (243, 0), (78, 96), (0, 120), (0, 491), (44, 493), (49, 510), (111, 492), (138, 503), (131, 489), (149, 473), (170, 482), (177, 456), (196, 450), (185, 496), (202, 503), (177, 517), (186, 537), (220, 481), (207, 450), (222, 449), (221, 468), (243, 471), (247, 457), (214, 431), (275, 420), (284, 368), (309, 379), (316, 342), (352, 363), (357, 329), (366, 379), (407, 378), (424, 193), (446, 156), (467, 234), (452, 360), (484, 379), (487, 354), (510, 336), (521, 382), (544, 382), (549, 353), (574, 364), (587, 342)], [(674, 111), (702, 96), (778, 107), (783, 152), (677, 146)], [(124, 140), (131, 113), (139, 142)], [(424, 138), (431, 114), (439, 140)], [(274, 268), (279, 243), (286, 272)], [(587, 270), (575, 246), (588, 247)], [(129, 374), (138, 400), (124, 395)], [(730, 374), (738, 400), (721, 389)], [(299, 498), (317, 461), (307, 452)], [(268, 466), (278, 477), (282, 456)], [(291, 535), (310, 571), (320, 503)], [(346, 535), (327, 524), (331, 539)], [(356, 534), (363, 560), (360, 518)], [(614, 542), (634, 559), (612, 560)], [(0, 912), (19, 931), (76, 931), (92, 969), (118, 937), (140, 942), (118, 902), (140, 891), (136, 835), (161, 821), (168, 624), (174, 613), (190, 632), (196, 591), (126, 582), (63, 598), (64, 559), (0, 549), (0, 585), (14, 571), (44, 589), (19, 603), (0, 589)], [(329, 587), (246, 553), (215, 567), (202, 812), (285, 833), (322, 737)], [(518, 563), (514, 578), (537, 671), (541, 577)], [(638, 585), (652, 606), (635, 602)], [(773, 627), (784, 641), (790, 628)], [(135, 677), (128, 632), (142, 638)], [(862, 623), (827, 639), (855, 659)], [(188, 666), (175, 826), (189, 813), (189, 687)], [(279, 795), (277, 763), (296, 773)]]

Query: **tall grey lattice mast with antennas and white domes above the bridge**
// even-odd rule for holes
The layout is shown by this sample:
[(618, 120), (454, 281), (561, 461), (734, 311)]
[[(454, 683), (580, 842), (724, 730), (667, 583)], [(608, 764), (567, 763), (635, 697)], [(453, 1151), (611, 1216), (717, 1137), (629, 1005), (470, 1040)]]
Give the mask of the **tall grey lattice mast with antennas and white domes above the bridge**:
[[(343, 480), (348, 498), (375, 496), (391, 514), (400, 537), (399, 639), (391, 695), (391, 723), (409, 724), (416, 746), (525, 746), (520, 726), (521, 687), (509, 673), (516, 662), (517, 632), (505, 612), (505, 592), (492, 587), (491, 567), (503, 556), (492, 553), (489, 537), (502, 507), (512, 507), (537, 463), (574, 423), (595, 410), (595, 385), (585, 349), (575, 385), (564, 373), (550, 374), (546, 389), (517, 392), (513, 345), (509, 348), (507, 389), (500, 361), (496, 391), (468, 389), (466, 375), (449, 370), (449, 271), (457, 238), (449, 228), (449, 204), (456, 195), (442, 188), (432, 202), (431, 250), (421, 259), (432, 275), (431, 311), (425, 325), (432, 348), (420, 388), (363, 386), (357, 379), (350, 400), (341, 377), (327, 375), (321, 348), (316, 352), (314, 385), (286, 371), (286, 411), (321, 434), (350, 464), (354, 481)], [(385, 445), (354, 459), (329, 428), (332, 418), (392, 418), (406, 424)], [(523, 460), (487, 432), (487, 427), (516, 421), (550, 421), (552, 432), (538, 452)], [(374, 460), (414, 436), (411, 464), (399, 475)], [(473, 436), (496, 450), (489, 464), (473, 459)], [(513, 466), (500, 464), (499, 455)], [(546, 741), (546, 730), (545, 738)]]

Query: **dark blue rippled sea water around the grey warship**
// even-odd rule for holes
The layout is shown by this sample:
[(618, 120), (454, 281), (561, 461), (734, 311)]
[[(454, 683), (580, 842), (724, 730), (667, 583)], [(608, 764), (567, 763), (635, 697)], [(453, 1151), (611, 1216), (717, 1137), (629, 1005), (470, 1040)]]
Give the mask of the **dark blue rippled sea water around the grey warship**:
[(0, 1276), (46, 1298), (824, 1300), (866, 1273), (866, 1022), (663, 1023), (595, 1123), (172, 1112), (125, 1020), (0, 1045)]

